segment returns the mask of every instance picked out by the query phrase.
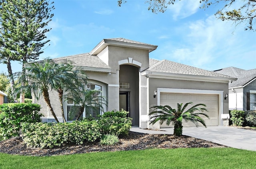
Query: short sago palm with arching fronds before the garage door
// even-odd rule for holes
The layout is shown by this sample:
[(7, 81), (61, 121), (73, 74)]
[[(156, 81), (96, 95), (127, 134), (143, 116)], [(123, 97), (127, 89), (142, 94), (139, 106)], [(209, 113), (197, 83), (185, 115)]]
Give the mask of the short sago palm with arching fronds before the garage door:
[[(151, 121), (150, 124), (155, 124), (158, 121), (160, 121), (160, 124), (163, 124), (166, 121), (166, 124), (169, 126), (170, 123), (172, 123), (174, 125), (173, 134), (175, 136), (182, 135), (182, 128), (183, 128), (182, 120), (185, 120), (186, 122), (191, 121), (196, 126), (198, 126), (198, 122), (200, 122), (202, 125), (204, 125), (204, 127), (206, 127), (204, 119), (202, 119), (200, 115), (204, 115), (207, 118), (209, 118), (207, 114), (203, 113), (203, 111), (208, 111), (208, 110), (206, 108), (198, 107), (198, 106), (206, 107), (206, 105), (199, 103), (185, 111), (186, 107), (189, 104), (193, 104), (193, 103), (188, 102), (183, 107), (182, 107), (182, 103), (181, 104), (177, 103), (177, 109), (173, 109), (171, 106), (168, 106), (168, 105), (152, 106), (151, 108), (154, 108), (154, 110), (150, 112), (149, 116), (154, 114), (156, 115), (150, 117), (150, 120), (153, 119), (153, 121)], [(199, 111), (199, 112), (196, 112), (196, 111)]]

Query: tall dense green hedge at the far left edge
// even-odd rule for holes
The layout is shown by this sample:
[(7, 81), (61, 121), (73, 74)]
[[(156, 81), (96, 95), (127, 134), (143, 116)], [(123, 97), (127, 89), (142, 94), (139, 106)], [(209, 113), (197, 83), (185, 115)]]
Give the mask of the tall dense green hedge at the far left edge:
[(7, 103), (0, 105), (0, 138), (2, 140), (19, 136), (22, 122), (41, 122), (39, 104)]

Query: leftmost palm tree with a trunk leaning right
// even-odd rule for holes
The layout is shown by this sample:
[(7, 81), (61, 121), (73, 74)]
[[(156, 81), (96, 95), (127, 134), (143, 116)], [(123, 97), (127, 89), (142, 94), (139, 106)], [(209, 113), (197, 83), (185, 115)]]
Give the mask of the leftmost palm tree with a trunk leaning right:
[[(37, 100), (43, 95), (44, 100), (52, 113), (52, 116), (59, 122), (52, 105), (50, 103), (49, 91), (56, 88), (56, 84), (63, 77), (62, 64), (54, 63), (50, 59), (44, 59), (43, 61), (30, 63), (26, 66), (26, 71), (24, 73), (19, 73), (18, 83), (26, 79), (29, 83), (24, 86), (19, 86), (15, 89), (15, 94), (22, 91), (28, 92), (32, 91)], [(22, 77), (22, 78), (21, 78)]]

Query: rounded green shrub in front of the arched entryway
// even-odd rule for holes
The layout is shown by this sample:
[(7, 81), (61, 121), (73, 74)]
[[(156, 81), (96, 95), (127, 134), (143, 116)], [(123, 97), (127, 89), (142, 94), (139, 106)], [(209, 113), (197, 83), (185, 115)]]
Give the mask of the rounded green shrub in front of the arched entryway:
[(132, 126), (132, 119), (126, 118), (128, 112), (121, 111), (112, 111), (105, 112), (98, 119), (102, 134), (113, 134), (116, 136), (128, 135), (128, 132)]

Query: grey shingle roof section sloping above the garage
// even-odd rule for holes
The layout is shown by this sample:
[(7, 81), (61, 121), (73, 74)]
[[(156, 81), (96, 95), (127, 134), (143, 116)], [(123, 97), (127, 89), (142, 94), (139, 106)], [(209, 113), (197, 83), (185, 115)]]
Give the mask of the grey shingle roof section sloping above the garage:
[(150, 59), (150, 67), (147, 69), (147, 71), (184, 74), (184, 75), (199, 75), (199, 76), (208, 76), (208, 77), (232, 78), (230, 76), (222, 75), (220, 73), (206, 71), (204, 69), (183, 65), (181, 63), (176, 63), (168, 60), (157, 61), (155, 59)]

